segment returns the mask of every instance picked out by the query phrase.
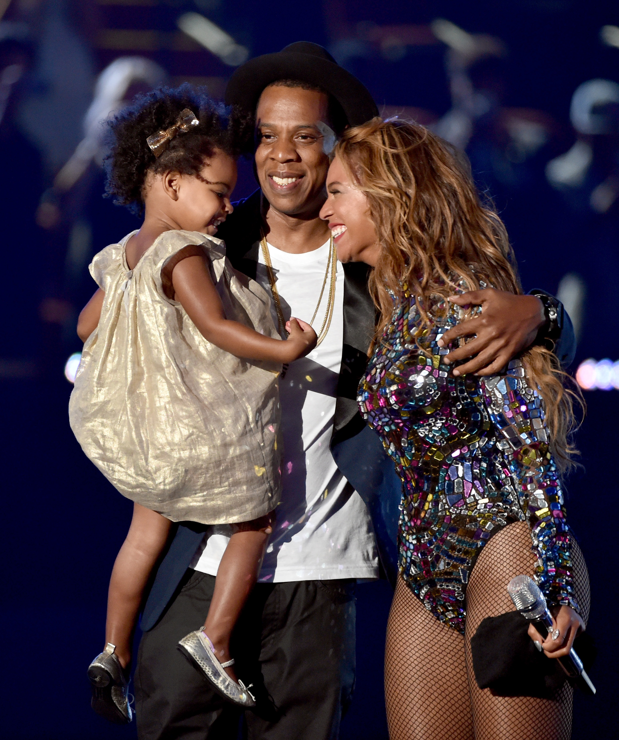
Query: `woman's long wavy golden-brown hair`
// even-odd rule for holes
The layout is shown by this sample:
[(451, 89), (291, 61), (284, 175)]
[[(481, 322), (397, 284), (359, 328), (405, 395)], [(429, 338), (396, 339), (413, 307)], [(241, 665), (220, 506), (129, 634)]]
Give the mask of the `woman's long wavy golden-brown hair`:
[[(436, 297), (458, 287), (478, 290), (484, 280), (522, 292), (503, 222), (481, 204), (470, 175), (436, 135), (408, 121), (373, 118), (346, 129), (333, 155), (365, 192), (381, 245), (369, 280), (379, 311), (375, 341), (390, 322), (402, 283), (417, 297), (425, 325)], [(521, 360), (544, 399), (551, 449), (565, 470), (576, 454), (570, 433), (573, 403), (581, 404), (581, 395), (564, 387), (569, 376), (548, 349), (532, 346)]]

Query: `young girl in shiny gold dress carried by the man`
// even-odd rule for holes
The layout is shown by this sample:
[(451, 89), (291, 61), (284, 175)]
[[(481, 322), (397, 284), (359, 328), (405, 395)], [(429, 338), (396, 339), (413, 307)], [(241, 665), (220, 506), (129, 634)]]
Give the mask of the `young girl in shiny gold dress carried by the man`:
[(183, 85), (144, 96), (111, 130), (108, 191), (144, 222), (92, 260), (99, 289), (78, 320), (70, 422), (135, 502), (109, 584), (106, 647), (88, 671), (92, 707), (124, 723), (132, 635), (171, 522), (232, 525), (204, 627), (179, 647), (227, 699), (254, 703), (229, 639), (280, 496), (277, 377), (316, 334), (291, 319), (282, 341), (263, 289), (213, 238), (232, 211), (246, 121)]

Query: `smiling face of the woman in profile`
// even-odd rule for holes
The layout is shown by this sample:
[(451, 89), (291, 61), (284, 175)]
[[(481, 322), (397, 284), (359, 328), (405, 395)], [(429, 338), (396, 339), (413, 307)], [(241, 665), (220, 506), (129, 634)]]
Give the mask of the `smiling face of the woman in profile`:
[(328, 221), (340, 262), (365, 262), (372, 267), (380, 245), (365, 193), (359, 189), (338, 157), (327, 175), (327, 201), (320, 218)]

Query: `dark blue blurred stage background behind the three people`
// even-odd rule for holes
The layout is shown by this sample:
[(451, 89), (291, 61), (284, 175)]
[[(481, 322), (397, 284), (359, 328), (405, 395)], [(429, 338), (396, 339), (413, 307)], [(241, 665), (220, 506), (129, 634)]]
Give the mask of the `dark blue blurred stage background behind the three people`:
[[(186, 13), (206, 16), (236, 45), (217, 47), (219, 56), (206, 50), (208, 38), (216, 45), (208, 33), (200, 44), (177, 27)], [(135, 223), (101, 199), (96, 126), (86, 135), (92, 146), (64, 167), (84, 139), (97, 75), (116, 58), (139, 55), (160, 69), (129, 81), (116, 102), (158, 78), (206, 84), (221, 95), (231, 62), (300, 39), (324, 44), (388, 113), (413, 116), (466, 147), (479, 186), (507, 223), (524, 289), (559, 291), (578, 324), (575, 371), (587, 358), (619, 360), (619, 7), (601, 0), (0, 0), (0, 19), (0, 734), (132, 738), (135, 724), (115, 727), (92, 713), (86, 678), (101, 649), (107, 581), (131, 505), (72, 437), (64, 377), (67, 358), (81, 349), (77, 313), (95, 288), (87, 264)], [(186, 22), (189, 30), (200, 25), (195, 16)], [(570, 119), (572, 94), (595, 79), (607, 82), (581, 89)], [(101, 104), (100, 118), (112, 104)], [(245, 164), (237, 194), (253, 188)], [(589, 629), (600, 647), (591, 671), (598, 696), (575, 697), (573, 738), (587, 740), (612, 736), (619, 692), (612, 596), (619, 364), (590, 364), (579, 377), (606, 388), (584, 391), (588, 413), (577, 437), (584, 469), (567, 485), (570, 522), (591, 573)], [(342, 739), (387, 739), (389, 601), (385, 582), (359, 586), (357, 685)]]

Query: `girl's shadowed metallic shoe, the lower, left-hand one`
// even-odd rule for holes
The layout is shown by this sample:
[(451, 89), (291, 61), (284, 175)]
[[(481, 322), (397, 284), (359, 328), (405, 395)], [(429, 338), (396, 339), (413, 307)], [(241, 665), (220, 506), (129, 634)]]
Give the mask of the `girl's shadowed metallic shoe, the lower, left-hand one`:
[(103, 653), (88, 666), (92, 684), (90, 706), (114, 724), (129, 724), (133, 717), (129, 706), (129, 682), (115, 649), (116, 646), (108, 642)]

